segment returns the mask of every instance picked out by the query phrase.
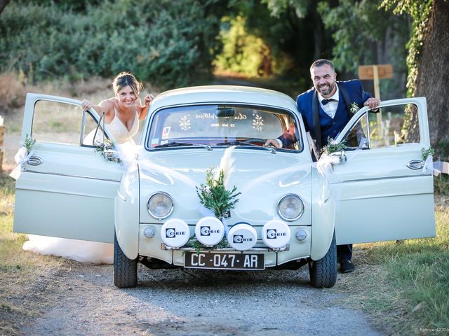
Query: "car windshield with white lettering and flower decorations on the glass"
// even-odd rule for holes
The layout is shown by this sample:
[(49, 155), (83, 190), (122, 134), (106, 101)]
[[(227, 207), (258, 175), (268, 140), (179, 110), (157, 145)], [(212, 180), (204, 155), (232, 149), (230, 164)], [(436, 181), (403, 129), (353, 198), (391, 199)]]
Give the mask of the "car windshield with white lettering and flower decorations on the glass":
[(154, 114), (147, 148), (198, 145), (255, 148), (263, 146), (267, 139), (281, 136), (287, 139), (285, 149), (302, 149), (297, 121), (286, 110), (229, 104), (182, 106)]

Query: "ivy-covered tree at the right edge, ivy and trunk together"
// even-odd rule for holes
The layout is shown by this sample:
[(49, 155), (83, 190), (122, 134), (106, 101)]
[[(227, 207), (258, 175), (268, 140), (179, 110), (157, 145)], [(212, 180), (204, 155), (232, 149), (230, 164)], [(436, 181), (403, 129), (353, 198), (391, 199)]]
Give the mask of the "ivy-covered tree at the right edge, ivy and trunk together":
[[(447, 0), (384, 0), (382, 6), (413, 18), (408, 42), (408, 96), (427, 97), (431, 145), (436, 154), (449, 158), (448, 109), (445, 84), (449, 77), (449, 2)], [(404, 125), (407, 137), (417, 139), (417, 120)]]

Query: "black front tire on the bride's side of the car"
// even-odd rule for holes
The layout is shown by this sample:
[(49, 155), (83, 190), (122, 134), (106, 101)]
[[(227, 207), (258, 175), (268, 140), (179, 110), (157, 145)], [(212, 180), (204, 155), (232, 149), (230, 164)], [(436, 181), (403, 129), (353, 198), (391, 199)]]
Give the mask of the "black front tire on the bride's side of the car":
[(138, 284), (138, 258), (128, 259), (121, 251), (114, 232), (114, 285), (119, 288), (135, 287)]

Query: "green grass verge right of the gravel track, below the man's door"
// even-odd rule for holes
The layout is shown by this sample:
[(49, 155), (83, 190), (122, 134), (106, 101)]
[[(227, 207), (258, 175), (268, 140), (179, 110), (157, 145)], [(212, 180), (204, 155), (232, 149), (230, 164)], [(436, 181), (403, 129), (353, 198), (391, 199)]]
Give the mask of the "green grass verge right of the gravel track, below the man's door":
[(356, 273), (337, 286), (396, 335), (449, 328), (449, 207), (443, 197), (436, 202), (436, 237), (359, 244)]

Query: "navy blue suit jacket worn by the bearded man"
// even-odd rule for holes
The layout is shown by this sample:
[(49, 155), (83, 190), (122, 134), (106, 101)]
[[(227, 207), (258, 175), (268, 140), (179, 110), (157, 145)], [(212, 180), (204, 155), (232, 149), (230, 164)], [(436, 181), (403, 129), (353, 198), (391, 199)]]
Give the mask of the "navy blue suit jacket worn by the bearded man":
[[(363, 103), (371, 96), (363, 91), (362, 83), (357, 79), (344, 82), (337, 81), (337, 85), (340, 90), (337, 113), (347, 113), (348, 116), (340, 116), (336, 113), (334, 119), (347, 118), (349, 120), (351, 117), (349, 111), (351, 104), (356, 103), (359, 108), (362, 108)], [(321, 149), (323, 143), (326, 144), (327, 139), (321, 139), (319, 114), (325, 112), (321, 109), (315, 88), (312, 87), (310, 90), (297, 96), (296, 103), (297, 109), (304, 120), (306, 131), (310, 132), (312, 139), (316, 141), (317, 148)], [(339, 129), (334, 131), (336, 133), (341, 132), (345, 125), (346, 123), (337, 124)]]

